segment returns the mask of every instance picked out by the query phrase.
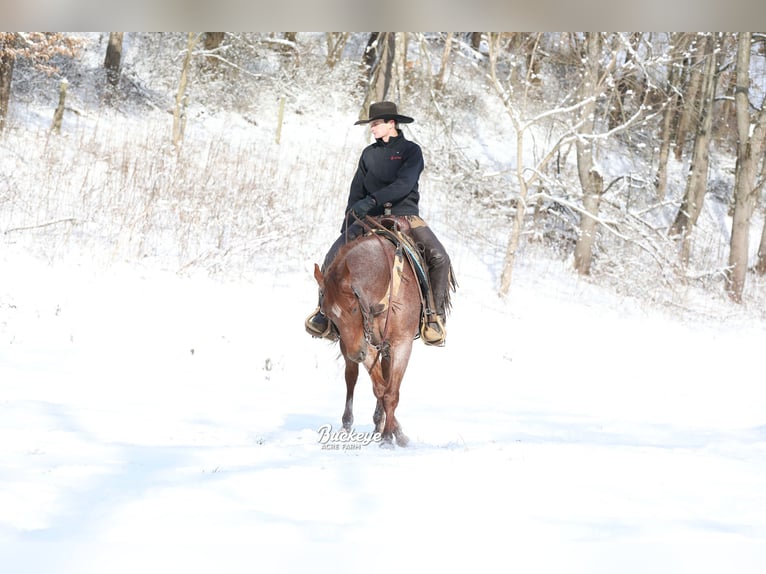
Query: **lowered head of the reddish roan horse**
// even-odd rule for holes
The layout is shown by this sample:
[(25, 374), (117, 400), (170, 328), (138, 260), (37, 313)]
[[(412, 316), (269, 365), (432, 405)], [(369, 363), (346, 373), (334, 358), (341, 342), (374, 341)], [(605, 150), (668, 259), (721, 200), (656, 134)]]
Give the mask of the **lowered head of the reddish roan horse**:
[(345, 355), (354, 362), (363, 362), (367, 358), (365, 320), (368, 315), (351, 284), (347, 266), (330, 265), (323, 275), (314, 264), (314, 278), (322, 293), (322, 312), (338, 329)]

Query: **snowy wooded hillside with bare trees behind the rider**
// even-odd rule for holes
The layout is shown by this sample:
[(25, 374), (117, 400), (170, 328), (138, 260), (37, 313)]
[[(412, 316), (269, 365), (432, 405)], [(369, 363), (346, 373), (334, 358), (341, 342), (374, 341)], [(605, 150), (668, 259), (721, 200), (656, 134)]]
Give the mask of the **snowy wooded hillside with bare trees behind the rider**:
[[(499, 295), (517, 257), (544, 254), (651, 300), (691, 286), (757, 302), (765, 98), (766, 35), (750, 32), (3, 33), (0, 145), (47, 151), (37, 175), (26, 152), (4, 154), (0, 226), (128, 257), (173, 243), (182, 267), (220, 270), (305, 220), (306, 187), (341, 209), (349, 170), (296, 167), (304, 154), (279, 147), (291, 126), (350, 124), (388, 99), (417, 114), (429, 216), (502, 258)], [(126, 143), (120, 122), (144, 120)], [(346, 143), (329, 149), (348, 166)], [(77, 181), (51, 201), (62, 161)]]

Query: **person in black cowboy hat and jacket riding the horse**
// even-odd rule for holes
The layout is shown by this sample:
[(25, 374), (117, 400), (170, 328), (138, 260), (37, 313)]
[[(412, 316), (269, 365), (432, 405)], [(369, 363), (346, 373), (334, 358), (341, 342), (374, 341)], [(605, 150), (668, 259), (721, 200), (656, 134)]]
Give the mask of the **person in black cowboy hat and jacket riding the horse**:
[[(327, 269), (342, 245), (364, 232), (356, 218), (383, 215), (384, 205), (391, 204), (391, 215), (405, 216), (410, 223), (409, 234), (424, 254), (428, 266), (436, 314), (427, 316), (423, 340), (428, 345), (442, 345), (447, 334), (444, 325), (450, 289), (450, 259), (434, 232), (418, 215), (418, 180), (424, 166), (423, 152), (418, 144), (404, 137), (399, 127), (399, 124), (413, 121), (411, 117), (399, 114), (394, 102), (377, 102), (370, 105), (368, 119), (355, 122), (355, 125), (370, 124), (375, 142), (367, 146), (359, 158), (341, 234), (330, 247), (322, 271)], [(332, 337), (329, 321), (319, 307), (306, 318), (305, 325), (306, 331), (314, 337)]]

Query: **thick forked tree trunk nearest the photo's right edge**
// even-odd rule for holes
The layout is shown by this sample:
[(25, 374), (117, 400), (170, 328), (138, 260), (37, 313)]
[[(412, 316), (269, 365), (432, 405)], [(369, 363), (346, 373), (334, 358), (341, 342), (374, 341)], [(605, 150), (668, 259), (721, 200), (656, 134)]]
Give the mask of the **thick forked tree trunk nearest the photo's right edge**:
[(740, 32), (737, 44), (737, 77), (734, 101), (737, 114), (737, 173), (734, 189), (734, 215), (729, 249), (726, 291), (732, 301), (742, 302), (750, 253), (750, 220), (755, 209), (757, 162), (762, 161), (766, 136), (766, 98), (750, 134), (750, 50), (752, 34)]

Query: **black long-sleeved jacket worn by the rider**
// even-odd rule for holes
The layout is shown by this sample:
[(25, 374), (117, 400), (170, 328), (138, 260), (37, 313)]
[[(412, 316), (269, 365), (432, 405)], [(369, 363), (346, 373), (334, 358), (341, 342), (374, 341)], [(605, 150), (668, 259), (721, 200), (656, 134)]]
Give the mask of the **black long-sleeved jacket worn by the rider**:
[(375, 140), (362, 150), (346, 212), (358, 200), (372, 195), (377, 205), (369, 215), (382, 215), (383, 206), (391, 203), (393, 215), (419, 215), (418, 179), (423, 171), (423, 151), (399, 132), (388, 142)]

